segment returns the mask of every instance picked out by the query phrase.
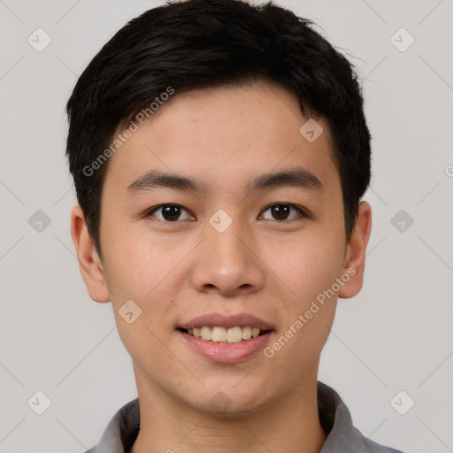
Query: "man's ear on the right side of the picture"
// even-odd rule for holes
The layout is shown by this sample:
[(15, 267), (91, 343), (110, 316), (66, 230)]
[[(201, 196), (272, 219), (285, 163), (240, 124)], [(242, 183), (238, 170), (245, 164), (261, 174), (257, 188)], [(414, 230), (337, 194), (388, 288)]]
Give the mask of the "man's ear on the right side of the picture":
[(338, 296), (342, 299), (356, 296), (362, 289), (365, 272), (366, 245), (372, 232), (372, 208), (367, 202), (360, 202), (356, 225), (352, 231), (346, 250), (343, 275), (349, 275)]

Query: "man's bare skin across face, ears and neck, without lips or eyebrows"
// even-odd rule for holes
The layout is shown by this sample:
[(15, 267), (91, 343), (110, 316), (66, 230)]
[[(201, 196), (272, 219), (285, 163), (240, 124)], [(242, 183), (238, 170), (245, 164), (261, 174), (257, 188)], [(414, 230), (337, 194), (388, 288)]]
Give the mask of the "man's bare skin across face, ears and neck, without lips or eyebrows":
[[(360, 203), (349, 242), (342, 189), (329, 127), (308, 142), (308, 118), (296, 97), (264, 81), (176, 93), (110, 158), (104, 180), (101, 250), (96, 253), (76, 205), (73, 243), (89, 296), (111, 302), (122, 342), (133, 359), (141, 430), (133, 453), (319, 452), (316, 383), (319, 356), (334, 322), (337, 296), (362, 288), (371, 207)], [(324, 190), (245, 186), (261, 173), (295, 166), (316, 175)], [(127, 194), (150, 169), (203, 181), (209, 193), (171, 188)], [(180, 218), (159, 204), (180, 205)], [(270, 204), (294, 204), (278, 217)], [(209, 224), (222, 209), (233, 220), (219, 234)], [(154, 216), (154, 217), (153, 217)], [(177, 218), (177, 216), (175, 217)], [(172, 221), (173, 219), (173, 221)], [(212, 362), (175, 330), (183, 321), (219, 312), (250, 313), (273, 323), (272, 345), (335, 279), (355, 275), (273, 357), (260, 350), (233, 364)], [(128, 324), (119, 309), (129, 299), (142, 315)], [(225, 412), (211, 406), (224, 392)]]

